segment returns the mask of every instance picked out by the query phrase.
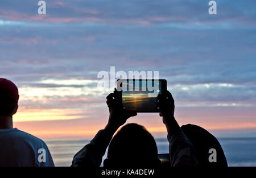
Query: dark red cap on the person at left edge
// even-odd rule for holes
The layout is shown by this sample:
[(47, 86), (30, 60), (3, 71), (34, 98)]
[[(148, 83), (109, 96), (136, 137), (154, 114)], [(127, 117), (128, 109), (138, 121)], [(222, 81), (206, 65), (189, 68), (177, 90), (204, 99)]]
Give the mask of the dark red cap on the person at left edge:
[(0, 78), (0, 98), (1, 97), (11, 98), (14, 100), (14, 103), (9, 106), (17, 105), (19, 101), (19, 90), (17, 86), (10, 80)]

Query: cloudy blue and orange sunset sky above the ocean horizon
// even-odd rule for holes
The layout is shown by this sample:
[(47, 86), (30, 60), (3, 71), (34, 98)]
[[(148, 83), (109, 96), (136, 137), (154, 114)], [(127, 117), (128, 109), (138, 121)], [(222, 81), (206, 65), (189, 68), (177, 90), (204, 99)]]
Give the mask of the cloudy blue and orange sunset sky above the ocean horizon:
[[(256, 136), (256, 1), (0, 1), (0, 77), (19, 88), (14, 127), (92, 138), (108, 122), (100, 71), (159, 71), (175, 118), (220, 137)], [(129, 122), (166, 136), (157, 113)]]

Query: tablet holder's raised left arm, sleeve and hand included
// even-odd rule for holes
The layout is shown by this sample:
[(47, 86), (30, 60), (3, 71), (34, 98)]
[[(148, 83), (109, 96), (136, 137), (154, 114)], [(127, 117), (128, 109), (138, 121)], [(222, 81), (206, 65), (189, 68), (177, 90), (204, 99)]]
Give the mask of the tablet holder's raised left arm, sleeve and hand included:
[(115, 131), (117, 131), (128, 118), (137, 115), (135, 112), (129, 112), (123, 109), (122, 101), (117, 90), (109, 94), (107, 97), (107, 105), (109, 107), (108, 124), (104, 130), (98, 131), (97, 135), (94, 136), (89, 144), (77, 152), (71, 166), (99, 167)]

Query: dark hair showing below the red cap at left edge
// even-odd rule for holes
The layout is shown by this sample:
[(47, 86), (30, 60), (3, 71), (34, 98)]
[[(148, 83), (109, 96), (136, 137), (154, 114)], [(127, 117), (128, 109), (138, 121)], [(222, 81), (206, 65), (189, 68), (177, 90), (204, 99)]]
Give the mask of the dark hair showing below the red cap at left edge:
[(0, 97), (0, 115), (11, 115), (16, 107), (15, 101), (10, 97)]

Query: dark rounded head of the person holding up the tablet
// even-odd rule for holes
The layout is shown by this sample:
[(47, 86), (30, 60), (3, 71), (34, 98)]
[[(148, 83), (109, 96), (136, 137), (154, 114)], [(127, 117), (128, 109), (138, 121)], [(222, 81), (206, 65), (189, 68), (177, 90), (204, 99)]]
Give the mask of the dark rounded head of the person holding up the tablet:
[(154, 137), (136, 123), (123, 126), (109, 144), (106, 167), (155, 167), (160, 163)]

